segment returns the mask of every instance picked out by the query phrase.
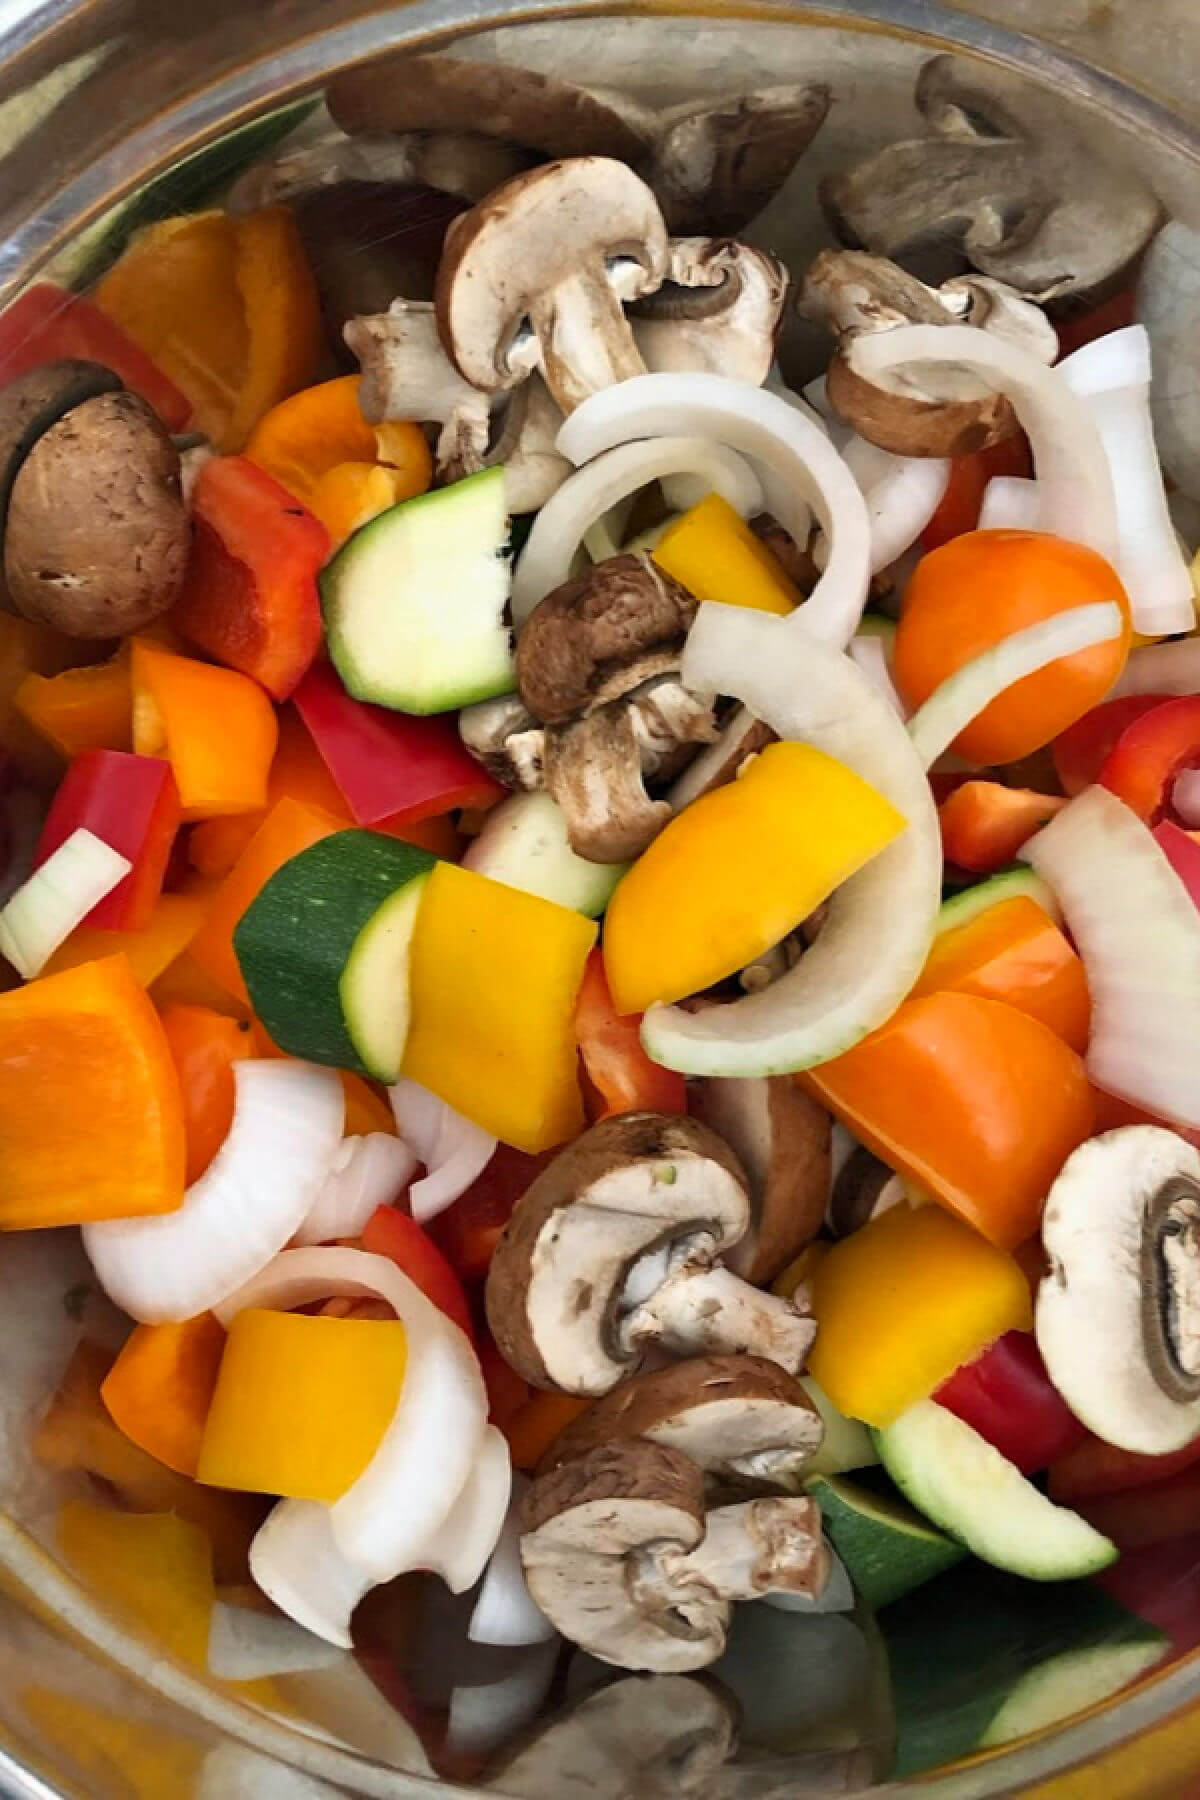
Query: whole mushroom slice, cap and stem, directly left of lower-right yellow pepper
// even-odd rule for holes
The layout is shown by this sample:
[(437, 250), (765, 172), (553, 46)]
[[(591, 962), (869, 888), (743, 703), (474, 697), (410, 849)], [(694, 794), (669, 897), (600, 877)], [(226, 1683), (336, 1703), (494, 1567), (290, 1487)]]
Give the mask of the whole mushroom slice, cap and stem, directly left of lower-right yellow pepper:
[(488, 1321), (540, 1388), (608, 1393), (649, 1345), (752, 1352), (795, 1373), (804, 1296), (763, 1294), (720, 1265), (750, 1219), (745, 1174), (698, 1120), (628, 1112), (583, 1132), (527, 1188), (488, 1273)]

